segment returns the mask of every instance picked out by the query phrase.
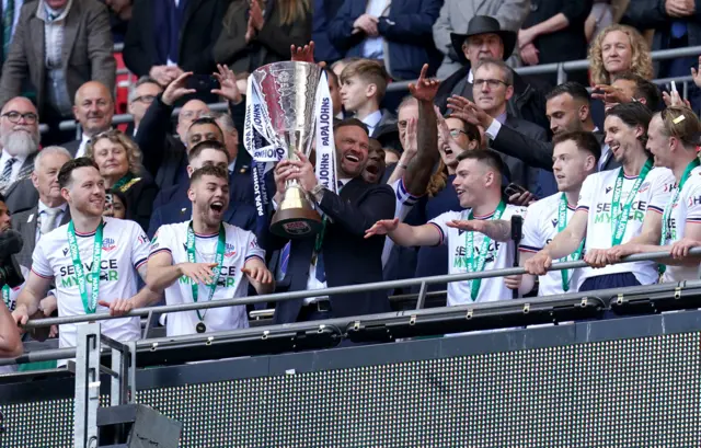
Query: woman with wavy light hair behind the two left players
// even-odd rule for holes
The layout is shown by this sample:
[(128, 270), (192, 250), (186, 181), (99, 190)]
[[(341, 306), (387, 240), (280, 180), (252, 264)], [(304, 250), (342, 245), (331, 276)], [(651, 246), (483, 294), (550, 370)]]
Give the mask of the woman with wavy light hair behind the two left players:
[(124, 193), (127, 219), (148, 230), (158, 187), (150, 177), (139, 177), (142, 170), (139, 147), (124, 133), (113, 129), (94, 136), (85, 148), (85, 157), (95, 161), (107, 189)]

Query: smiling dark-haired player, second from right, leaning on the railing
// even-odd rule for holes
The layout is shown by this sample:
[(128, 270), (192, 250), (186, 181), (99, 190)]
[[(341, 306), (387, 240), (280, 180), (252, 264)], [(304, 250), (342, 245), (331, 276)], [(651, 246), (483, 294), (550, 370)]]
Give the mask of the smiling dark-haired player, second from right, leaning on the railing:
[(607, 266), (612, 260), (609, 250), (616, 245), (659, 241), (662, 212), (674, 174), (666, 168), (654, 168), (645, 151), (651, 118), (651, 112), (640, 103), (620, 104), (607, 112), (606, 142), (622, 166), (584, 181), (574, 216), (545, 249), (526, 262), (529, 274), (544, 275), (553, 260), (575, 252), (586, 237), (584, 260), (602, 268), (582, 269), (581, 291), (656, 282), (654, 262)]

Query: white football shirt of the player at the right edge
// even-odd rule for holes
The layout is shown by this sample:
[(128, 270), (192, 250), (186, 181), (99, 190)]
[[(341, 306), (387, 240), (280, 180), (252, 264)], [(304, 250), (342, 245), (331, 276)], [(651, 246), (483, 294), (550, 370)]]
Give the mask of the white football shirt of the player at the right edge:
[[(670, 196), (674, 195), (674, 192)], [(671, 198), (669, 199), (671, 200)], [(683, 238), (687, 223), (701, 225), (701, 166), (691, 171), (691, 175), (683, 184), (677, 203), (669, 214), (665, 236), (665, 245)], [(682, 282), (699, 279), (699, 266), (667, 266), (663, 282)]]

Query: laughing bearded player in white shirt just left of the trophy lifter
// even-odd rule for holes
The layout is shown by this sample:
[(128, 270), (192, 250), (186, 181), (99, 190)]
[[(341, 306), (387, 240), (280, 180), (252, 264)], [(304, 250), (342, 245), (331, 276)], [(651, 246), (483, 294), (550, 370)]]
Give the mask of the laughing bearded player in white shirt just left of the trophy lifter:
[[(161, 226), (153, 237), (149, 286), (164, 290), (168, 305), (245, 297), (249, 282), (258, 294), (273, 292), (273, 274), (255, 236), (222, 222), (229, 205), (226, 170), (215, 165), (196, 170), (187, 196), (193, 219)], [(175, 312), (166, 321), (169, 336), (246, 326), (244, 306)]]

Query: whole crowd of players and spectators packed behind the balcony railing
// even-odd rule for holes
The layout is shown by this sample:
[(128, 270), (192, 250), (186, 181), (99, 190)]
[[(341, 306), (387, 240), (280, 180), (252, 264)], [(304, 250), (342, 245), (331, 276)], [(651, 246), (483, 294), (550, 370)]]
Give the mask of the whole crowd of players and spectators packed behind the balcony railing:
[[(651, 57), (698, 44), (692, 0), (1, 7), (0, 230), (22, 234), (26, 275), (2, 288), (0, 356), (18, 353), (20, 332), (74, 345), (76, 325), (24, 334), (30, 319), (483, 272), (517, 253), (527, 274), (432, 288), (455, 306), (699, 278), (701, 58)], [(128, 126), (113, 123), (122, 42), (138, 78)], [(588, 70), (561, 84), (514, 70), (584, 58)], [(319, 182), (314, 157), (283, 160), (263, 181), (261, 217), (242, 145), (248, 80), (290, 59), (325, 73), (338, 185)], [(652, 82), (689, 74), (688, 100)], [(388, 85), (405, 80), (410, 94), (392, 100)], [(290, 181), (323, 216), (315, 237), (269, 230)], [(619, 264), (659, 250), (671, 256)], [(588, 267), (548, 271), (572, 260)], [(271, 303), (273, 321), (386, 312), (391, 292)], [(239, 306), (163, 324), (182, 335), (249, 320)], [(103, 332), (136, 340), (140, 323), (114, 319)]]

